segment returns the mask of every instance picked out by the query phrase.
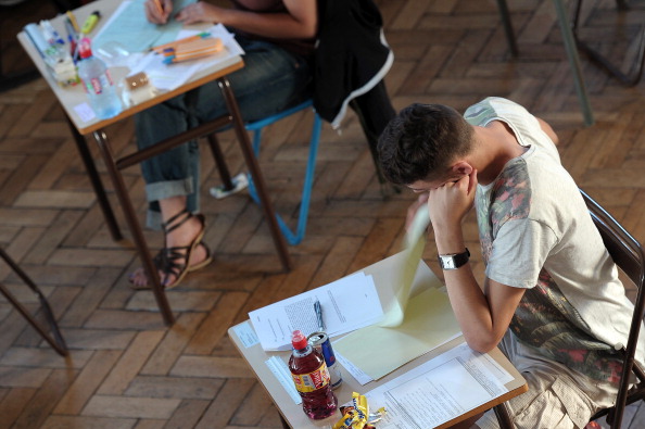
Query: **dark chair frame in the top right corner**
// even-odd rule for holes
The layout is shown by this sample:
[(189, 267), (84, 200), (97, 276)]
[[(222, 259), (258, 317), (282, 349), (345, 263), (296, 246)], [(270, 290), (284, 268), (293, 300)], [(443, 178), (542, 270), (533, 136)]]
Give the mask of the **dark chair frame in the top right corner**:
[[(619, 11), (622, 13), (627, 12), (630, 7), (627, 0), (616, 0), (616, 5)], [(623, 73), (619, 66), (612, 64), (605, 55), (603, 55), (599, 51), (593, 49), (590, 45), (584, 42), (580, 36), (578, 35), (578, 28), (580, 23), (580, 12), (582, 10), (582, 0), (578, 0), (576, 4), (576, 14), (573, 16), (573, 25), (571, 29), (573, 31), (573, 38), (576, 39), (576, 45), (580, 50), (582, 50), (586, 55), (592, 60), (594, 63), (599, 65), (600, 67), (605, 68), (609, 72), (610, 75), (615, 76), (620, 80), (623, 85), (628, 87), (633, 87), (641, 80), (643, 76), (643, 68), (645, 66), (645, 26), (641, 29), (641, 38), (638, 40), (638, 47), (636, 51), (636, 60), (634, 62), (635, 66), (632, 66), (633, 73), (625, 74)]]

